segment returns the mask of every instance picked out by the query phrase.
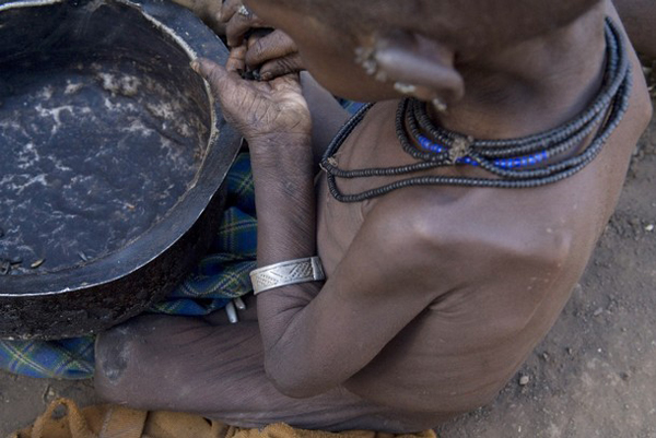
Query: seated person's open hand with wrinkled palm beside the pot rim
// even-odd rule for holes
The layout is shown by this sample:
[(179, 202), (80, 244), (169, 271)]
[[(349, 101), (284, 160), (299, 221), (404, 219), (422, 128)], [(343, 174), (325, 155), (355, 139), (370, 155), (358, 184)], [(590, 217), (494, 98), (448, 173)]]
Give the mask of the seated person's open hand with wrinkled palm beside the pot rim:
[(223, 116), (251, 147), (309, 144), (311, 116), (297, 74), (269, 82), (246, 81), (235, 71), (202, 58), (191, 68), (210, 83)]

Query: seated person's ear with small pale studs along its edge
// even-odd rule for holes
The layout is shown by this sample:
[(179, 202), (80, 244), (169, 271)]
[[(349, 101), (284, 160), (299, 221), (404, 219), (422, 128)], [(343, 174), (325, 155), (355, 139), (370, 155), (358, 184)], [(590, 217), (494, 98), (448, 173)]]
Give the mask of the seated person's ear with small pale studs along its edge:
[(465, 82), (454, 66), (454, 50), (423, 35), (400, 31), (377, 35), (356, 56), (377, 80), (394, 83), (401, 94), (432, 102), (437, 109), (445, 109), (465, 94)]

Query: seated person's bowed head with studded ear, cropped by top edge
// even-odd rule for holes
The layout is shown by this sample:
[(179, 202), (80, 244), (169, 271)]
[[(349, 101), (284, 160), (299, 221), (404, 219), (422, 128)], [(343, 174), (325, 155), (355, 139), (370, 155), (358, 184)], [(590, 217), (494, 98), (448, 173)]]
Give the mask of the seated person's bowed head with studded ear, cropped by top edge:
[(309, 72), (341, 97), (382, 100), (418, 85), (426, 100), (453, 100), (462, 93), (458, 63), (553, 32), (599, 0), (245, 2), (286, 32)]

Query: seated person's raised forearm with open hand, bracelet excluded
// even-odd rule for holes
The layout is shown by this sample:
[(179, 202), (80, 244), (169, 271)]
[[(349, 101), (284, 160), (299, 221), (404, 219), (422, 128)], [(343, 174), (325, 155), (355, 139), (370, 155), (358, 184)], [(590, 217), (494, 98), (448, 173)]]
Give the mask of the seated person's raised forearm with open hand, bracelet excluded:
[[(312, 119), (297, 81), (291, 75), (268, 83), (245, 81), (207, 59), (199, 59), (191, 67), (210, 82), (226, 120), (250, 145), (258, 264), (262, 268), (317, 256)], [(269, 375), (277, 376), (274, 382), (303, 388), (305, 382), (314, 382), (317, 368), (321, 368), (315, 363), (324, 364), (321, 358), (312, 362), (316, 356), (316, 333), (312, 328), (317, 320), (312, 310), (317, 307), (321, 285), (286, 285), (257, 296), (265, 367), (268, 372), (273, 368)], [(309, 377), (301, 376), (298, 380), (295, 374), (304, 362), (307, 366), (301, 368), (307, 369)], [(343, 378), (340, 375), (328, 380), (319, 390), (333, 387)]]

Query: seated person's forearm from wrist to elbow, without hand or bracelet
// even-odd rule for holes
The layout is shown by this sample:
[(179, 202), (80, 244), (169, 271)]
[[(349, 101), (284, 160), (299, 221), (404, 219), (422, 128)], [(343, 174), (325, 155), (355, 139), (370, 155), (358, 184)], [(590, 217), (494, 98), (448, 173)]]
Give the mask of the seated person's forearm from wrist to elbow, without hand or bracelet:
[[(259, 267), (317, 254), (309, 138), (283, 135), (268, 143), (250, 145)], [(313, 396), (342, 381), (341, 375), (325, 370), (315, 357), (309, 305), (321, 286), (319, 282), (293, 284), (257, 296), (265, 369), (285, 395)]]

